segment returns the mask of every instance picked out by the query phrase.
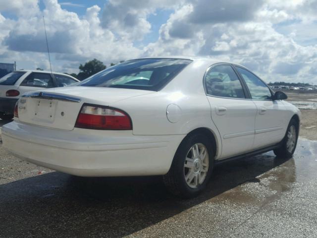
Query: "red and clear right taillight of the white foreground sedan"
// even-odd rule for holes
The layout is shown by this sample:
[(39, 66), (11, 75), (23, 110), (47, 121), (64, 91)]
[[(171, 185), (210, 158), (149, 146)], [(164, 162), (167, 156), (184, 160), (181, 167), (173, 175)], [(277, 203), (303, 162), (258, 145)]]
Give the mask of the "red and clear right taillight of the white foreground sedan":
[(130, 117), (115, 108), (84, 105), (75, 127), (100, 130), (132, 130)]

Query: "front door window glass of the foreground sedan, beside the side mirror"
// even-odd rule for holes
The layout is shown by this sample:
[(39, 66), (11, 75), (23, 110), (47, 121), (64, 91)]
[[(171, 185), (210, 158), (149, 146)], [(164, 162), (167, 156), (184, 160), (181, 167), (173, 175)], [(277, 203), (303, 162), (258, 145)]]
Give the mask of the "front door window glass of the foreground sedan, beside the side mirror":
[(252, 99), (271, 100), (272, 94), (264, 82), (250, 71), (236, 67), (244, 81), (246, 82)]

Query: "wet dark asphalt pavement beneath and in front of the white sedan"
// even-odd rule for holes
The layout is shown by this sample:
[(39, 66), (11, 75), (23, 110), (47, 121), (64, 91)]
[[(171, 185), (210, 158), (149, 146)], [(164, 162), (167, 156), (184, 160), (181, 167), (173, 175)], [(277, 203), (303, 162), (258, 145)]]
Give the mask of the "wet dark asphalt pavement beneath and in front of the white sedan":
[(49, 173), (0, 143), (0, 238), (125, 236), (316, 238), (317, 141), (299, 139), (289, 160), (268, 152), (221, 165), (190, 200), (160, 177)]

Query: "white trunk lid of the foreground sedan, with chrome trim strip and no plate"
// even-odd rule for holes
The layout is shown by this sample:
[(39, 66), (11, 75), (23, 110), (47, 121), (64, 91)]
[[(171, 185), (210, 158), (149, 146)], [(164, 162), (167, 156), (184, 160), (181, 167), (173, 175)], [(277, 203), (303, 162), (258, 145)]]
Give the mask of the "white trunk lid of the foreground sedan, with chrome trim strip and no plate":
[(72, 130), (84, 103), (111, 106), (114, 102), (149, 93), (153, 92), (76, 86), (35, 91), (21, 97), (19, 120), (28, 124)]

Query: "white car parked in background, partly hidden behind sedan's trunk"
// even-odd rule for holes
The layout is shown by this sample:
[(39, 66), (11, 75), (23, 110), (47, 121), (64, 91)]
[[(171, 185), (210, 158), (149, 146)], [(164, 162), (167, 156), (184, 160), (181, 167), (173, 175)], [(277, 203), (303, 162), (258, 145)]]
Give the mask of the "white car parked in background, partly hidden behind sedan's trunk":
[(17, 70), (0, 78), (0, 119), (12, 119), (14, 105), (23, 93), (64, 87), (79, 82), (64, 73), (43, 70)]

